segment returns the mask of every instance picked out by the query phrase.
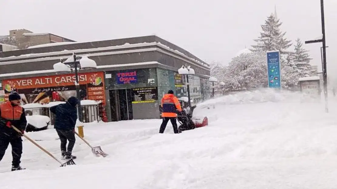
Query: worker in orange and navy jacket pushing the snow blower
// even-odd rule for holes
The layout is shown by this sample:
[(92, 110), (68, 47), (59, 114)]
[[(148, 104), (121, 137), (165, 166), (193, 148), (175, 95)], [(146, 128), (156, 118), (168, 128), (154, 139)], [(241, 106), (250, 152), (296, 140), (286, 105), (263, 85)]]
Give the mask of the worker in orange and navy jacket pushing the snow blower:
[(168, 93), (161, 99), (161, 108), (161, 117), (163, 118), (163, 122), (161, 123), (159, 133), (164, 133), (168, 120), (172, 123), (174, 133), (178, 133), (177, 110), (182, 111), (182, 109), (178, 98), (174, 96), (174, 92), (172, 90), (169, 90)]

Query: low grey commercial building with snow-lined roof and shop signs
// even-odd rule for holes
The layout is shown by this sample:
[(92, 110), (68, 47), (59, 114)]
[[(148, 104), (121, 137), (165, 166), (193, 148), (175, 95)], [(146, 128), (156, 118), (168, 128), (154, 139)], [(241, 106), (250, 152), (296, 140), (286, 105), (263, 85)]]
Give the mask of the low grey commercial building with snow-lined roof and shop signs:
[(0, 52), (4, 98), (12, 90), (21, 93), (25, 103), (75, 95), (74, 74), (60, 75), (53, 69), (73, 52), (96, 62), (96, 69), (79, 71), (81, 98), (101, 100), (109, 121), (159, 118), (159, 102), (168, 90), (187, 96), (184, 76), (177, 71), (182, 65), (195, 70), (189, 76), (192, 102), (208, 95), (209, 64), (157, 36), (52, 45)]

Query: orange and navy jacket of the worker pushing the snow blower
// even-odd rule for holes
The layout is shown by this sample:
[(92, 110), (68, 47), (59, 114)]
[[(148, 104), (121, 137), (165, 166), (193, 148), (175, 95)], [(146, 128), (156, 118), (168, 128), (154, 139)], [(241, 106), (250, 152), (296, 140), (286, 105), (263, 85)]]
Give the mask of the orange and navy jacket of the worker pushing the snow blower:
[(179, 100), (173, 94), (165, 94), (161, 99), (162, 117), (177, 117), (177, 110), (182, 111)]

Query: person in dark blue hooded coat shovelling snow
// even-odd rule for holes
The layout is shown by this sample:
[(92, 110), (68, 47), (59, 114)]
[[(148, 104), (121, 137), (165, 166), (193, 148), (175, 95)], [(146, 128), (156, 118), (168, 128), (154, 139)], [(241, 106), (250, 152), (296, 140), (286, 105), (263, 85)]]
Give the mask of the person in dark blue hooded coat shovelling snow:
[[(72, 96), (65, 104), (52, 106), (50, 111), (55, 114), (55, 124), (57, 134), (61, 141), (61, 155), (63, 159), (75, 159), (72, 149), (75, 145), (75, 125), (77, 120), (76, 105), (79, 99)], [(67, 140), (69, 141), (68, 147)]]

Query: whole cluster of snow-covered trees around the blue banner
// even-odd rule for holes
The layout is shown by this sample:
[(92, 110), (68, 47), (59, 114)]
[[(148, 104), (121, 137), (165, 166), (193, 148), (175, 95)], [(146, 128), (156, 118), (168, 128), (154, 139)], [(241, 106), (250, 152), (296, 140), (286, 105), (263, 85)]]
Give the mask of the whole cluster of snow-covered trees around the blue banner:
[(271, 14), (262, 25), (261, 36), (254, 41), (252, 49), (244, 49), (236, 54), (228, 66), (219, 63), (211, 64), (211, 75), (224, 86), (217, 86), (224, 90), (245, 90), (268, 87), (267, 51), (279, 50), (281, 53), (281, 81), (282, 88), (299, 90), (299, 78), (316, 76), (317, 70), (310, 64), (308, 51), (303, 48), (300, 39), (296, 40), (295, 51), (289, 51), (292, 45), (287, 40), (285, 32), (280, 30), (282, 22)]

